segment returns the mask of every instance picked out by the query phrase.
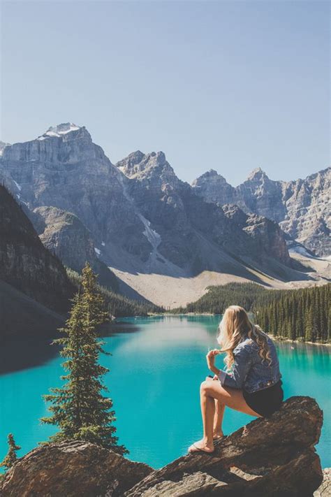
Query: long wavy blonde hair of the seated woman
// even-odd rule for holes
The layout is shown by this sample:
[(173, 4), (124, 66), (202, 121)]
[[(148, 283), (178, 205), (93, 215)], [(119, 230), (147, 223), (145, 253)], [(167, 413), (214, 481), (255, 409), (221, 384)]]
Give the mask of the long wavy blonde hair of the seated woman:
[(226, 352), (224, 362), (229, 369), (235, 360), (233, 350), (244, 338), (251, 338), (259, 347), (258, 354), (263, 361), (269, 361), (270, 349), (267, 343), (267, 335), (260, 329), (260, 326), (253, 324), (246, 310), (240, 305), (230, 305), (223, 314), (219, 324), (217, 341), (221, 346), (221, 352)]

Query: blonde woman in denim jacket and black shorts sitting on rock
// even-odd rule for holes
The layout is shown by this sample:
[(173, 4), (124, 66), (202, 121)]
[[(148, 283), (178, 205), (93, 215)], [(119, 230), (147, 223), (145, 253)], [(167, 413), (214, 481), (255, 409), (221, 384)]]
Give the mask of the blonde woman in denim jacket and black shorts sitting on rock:
[[(226, 405), (247, 415), (264, 417), (272, 415), (283, 401), (274, 343), (251, 323), (244, 308), (230, 305), (226, 309), (217, 341), (221, 349), (211, 350), (206, 356), (214, 377), (207, 377), (200, 387), (203, 439), (193, 443), (189, 452), (214, 451), (214, 440), (223, 437)], [(226, 352), (226, 371), (214, 365), (215, 356), (222, 352)]]

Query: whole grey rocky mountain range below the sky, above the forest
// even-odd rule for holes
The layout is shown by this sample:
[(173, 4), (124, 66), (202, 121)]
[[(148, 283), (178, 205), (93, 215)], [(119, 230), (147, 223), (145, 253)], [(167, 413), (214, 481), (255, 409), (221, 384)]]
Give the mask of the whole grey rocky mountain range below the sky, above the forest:
[(199, 278), (198, 293), (219, 277), (314, 281), (288, 247), (330, 249), (330, 168), (288, 183), (258, 169), (237, 188), (209, 171), (189, 185), (163, 152), (112, 164), (72, 123), (3, 143), (0, 154), (0, 178), (45, 247), (76, 271), (88, 260), (102, 284), (127, 296), (173, 306), (180, 296), (162, 301), (162, 292)]

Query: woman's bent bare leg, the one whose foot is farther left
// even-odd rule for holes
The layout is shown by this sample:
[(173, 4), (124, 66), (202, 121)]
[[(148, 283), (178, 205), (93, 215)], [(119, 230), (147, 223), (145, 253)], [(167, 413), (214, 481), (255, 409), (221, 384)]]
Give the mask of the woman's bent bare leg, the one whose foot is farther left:
[(213, 427), (215, 417), (215, 400), (231, 409), (260, 417), (247, 405), (242, 390), (222, 387), (220, 382), (206, 380), (200, 387), (201, 414), (203, 416), (203, 438), (189, 447), (189, 452), (198, 449), (213, 452)]

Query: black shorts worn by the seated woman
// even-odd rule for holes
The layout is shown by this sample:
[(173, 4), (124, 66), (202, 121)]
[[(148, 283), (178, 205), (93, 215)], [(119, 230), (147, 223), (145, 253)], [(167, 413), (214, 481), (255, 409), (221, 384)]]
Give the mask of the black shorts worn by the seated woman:
[(253, 411), (257, 412), (260, 416), (271, 416), (275, 411), (281, 407), (284, 399), (284, 391), (281, 388), (282, 382), (267, 387), (262, 390), (254, 391), (249, 394), (248, 391), (243, 390), (242, 394), (244, 399)]

